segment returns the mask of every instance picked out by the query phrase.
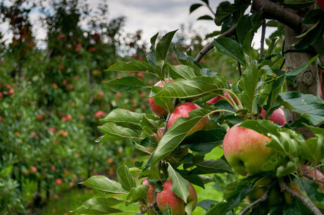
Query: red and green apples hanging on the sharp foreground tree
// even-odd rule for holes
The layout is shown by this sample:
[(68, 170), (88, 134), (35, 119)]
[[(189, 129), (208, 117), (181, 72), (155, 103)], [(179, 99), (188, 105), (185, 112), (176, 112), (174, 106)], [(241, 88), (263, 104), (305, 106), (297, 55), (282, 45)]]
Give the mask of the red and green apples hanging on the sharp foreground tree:
[[(166, 79), (166, 82), (171, 81), (173, 81), (173, 79)], [(163, 87), (163, 85), (163, 82), (160, 81), (157, 82), (154, 86)], [(226, 91), (224, 93), (224, 97), (230, 100), (230, 97), (232, 97), (232, 95)], [(218, 100), (225, 100), (225, 98), (216, 96), (215, 98), (208, 100), (207, 103), (216, 103)], [(232, 100), (237, 103), (236, 98), (233, 97)], [(157, 105), (154, 102), (154, 98), (149, 98), (149, 104), (151, 105), (153, 112), (159, 117), (168, 115), (168, 111), (164, 107)], [(194, 103), (182, 103), (181, 105), (175, 107), (175, 110), (173, 110), (168, 121), (168, 129), (177, 119), (179, 119), (180, 117), (189, 117), (189, 112), (199, 108), (201, 107)], [(266, 110), (261, 107), (260, 118), (263, 119), (265, 115)], [(278, 108), (277, 110), (273, 111), (268, 120), (275, 124), (280, 124), (281, 126), (283, 126), (286, 124), (285, 112), (281, 108)], [(189, 131), (187, 136), (201, 129), (208, 129), (208, 127), (209, 119), (208, 117), (205, 117), (204, 119), (201, 119), (201, 121), (196, 126), (194, 126), (191, 131)], [(157, 142), (161, 140), (163, 131), (164, 129), (162, 128), (158, 129), (157, 133), (154, 133)], [(261, 173), (263, 164), (268, 162), (268, 159), (270, 159), (271, 156), (275, 155), (274, 150), (265, 146), (265, 143), (267, 141), (270, 142), (271, 139), (252, 129), (247, 129), (239, 126), (239, 124), (236, 124), (235, 126), (232, 126), (232, 128), (228, 129), (228, 132), (223, 139), (223, 154), (228, 163), (238, 174), (241, 174), (242, 176), (247, 176), (247, 174), (258, 174)], [(152, 152), (154, 148), (147, 148), (147, 150), (149, 152)], [(173, 153), (177, 153), (177, 157), (183, 157), (187, 154), (187, 152), (187, 148), (180, 148), (177, 149), (177, 152)], [(254, 185), (253, 192), (249, 194), (249, 200), (254, 201), (261, 197), (261, 195), (266, 192), (266, 185), (268, 185), (271, 181), (273, 181), (273, 178), (261, 178)], [(149, 183), (147, 179), (143, 181), (143, 184), (149, 185), (147, 202), (154, 202), (154, 185)], [(162, 186), (163, 191), (161, 193), (157, 193), (156, 197), (158, 208), (161, 211), (165, 211), (167, 204), (169, 204), (173, 214), (185, 214), (185, 202), (172, 192), (172, 181), (166, 181), (166, 183), (164, 183)], [(272, 190), (270, 190), (270, 206), (278, 204), (278, 202), (282, 202), (282, 195), (278, 194), (279, 192), (279, 188), (273, 188)], [(192, 184), (190, 184), (189, 186), (189, 196), (187, 203), (189, 202), (194, 202), (195, 204), (197, 203), (197, 193), (196, 190), (194, 190)]]

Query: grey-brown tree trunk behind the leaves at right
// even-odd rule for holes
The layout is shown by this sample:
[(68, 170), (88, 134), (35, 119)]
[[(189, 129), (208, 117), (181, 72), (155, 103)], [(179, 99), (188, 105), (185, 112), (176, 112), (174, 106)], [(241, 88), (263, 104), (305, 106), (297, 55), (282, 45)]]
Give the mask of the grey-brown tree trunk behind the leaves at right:
[[(301, 15), (301, 14), (299, 14)], [(303, 15), (301, 15), (303, 16)], [(296, 44), (299, 39), (295, 38), (300, 34), (300, 32), (296, 32), (290, 27), (285, 26), (285, 51), (294, 50), (292, 44)], [(286, 57), (286, 70), (295, 70), (301, 65), (304, 65), (316, 56), (316, 53), (311, 53), (308, 51), (305, 52), (287, 52), (285, 54)], [(319, 96), (319, 81), (318, 81), (318, 70), (317, 63), (314, 62), (306, 70), (300, 72), (296, 76), (296, 81), (294, 84), (290, 84), (287, 82), (287, 91), (299, 91), (304, 94), (313, 94), (315, 96)], [(287, 122), (294, 122), (299, 119), (300, 116), (296, 113), (287, 112)], [(306, 126), (297, 129), (297, 131), (301, 132), (304, 138), (310, 138), (314, 136), (313, 132), (309, 130)]]

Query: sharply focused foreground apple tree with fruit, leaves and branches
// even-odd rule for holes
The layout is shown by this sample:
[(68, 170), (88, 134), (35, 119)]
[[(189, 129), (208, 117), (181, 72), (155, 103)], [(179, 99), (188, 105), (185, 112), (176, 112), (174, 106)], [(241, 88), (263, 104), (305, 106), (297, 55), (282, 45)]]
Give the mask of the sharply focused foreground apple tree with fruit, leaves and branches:
[[(200, 6), (210, 8), (202, 0), (190, 12)], [(106, 82), (118, 92), (151, 89), (155, 114), (115, 109), (102, 119), (104, 135), (97, 141), (130, 139), (143, 159), (119, 167), (117, 181), (92, 176), (83, 182), (106, 197), (92, 198), (74, 212), (113, 214), (123, 212), (116, 204), (136, 204), (135, 214), (192, 214), (195, 207), (206, 214), (322, 214), (324, 102), (318, 97), (318, 67), (324, 63), (324, 12), (316, 7), (307, 0), (224, 1), (215, 18), (200, 18), (222, 29), (196, 58), (170, 46), (173, 31), (151, 38), (147, 62), (111, 65), (107, 72), (147, 72), (160, 79), (154, 86), (134, 76)], [(269, 39), (267, 26), (276, 27)], [(251, 41), (258, 29), (261, 48), (255, 50)], [(213, 48), (237, 61), (234, 83), (199, 64)], [(179, 64), (168, 63), (169, 49)], [(216, 147), (224, 156), (206, 159)], [(215, 182), (211, 174), (233, 174), (235, 180), (223, 188), (223, 201), (197, 202), (192, 184), (204, 188)]]

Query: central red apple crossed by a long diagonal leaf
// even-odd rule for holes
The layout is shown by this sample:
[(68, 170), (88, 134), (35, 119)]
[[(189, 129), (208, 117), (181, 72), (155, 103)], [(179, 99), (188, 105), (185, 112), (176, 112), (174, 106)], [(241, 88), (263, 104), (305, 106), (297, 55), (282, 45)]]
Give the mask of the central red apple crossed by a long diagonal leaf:
[[(168, 129), (170, 126), (173, 125), (173, 123), (179, 119), (180, 117), (189, 117), (189, 112), (192, 110), (201, 109), (199, 105), (196, 105), (194, 103), (183, 103), (177, 107), (175, 107), (175, 110), (173, 110), (172, 114), (170, 115), (170, 119), (168, 122)], [(209, 128), (209, 119), (208, 117), (204, 117), (204, 119), (201, 119), (189, 133), (187, 133), (187, 136), (191, 135), (192, 133), (199, 131), (204, 128)]]

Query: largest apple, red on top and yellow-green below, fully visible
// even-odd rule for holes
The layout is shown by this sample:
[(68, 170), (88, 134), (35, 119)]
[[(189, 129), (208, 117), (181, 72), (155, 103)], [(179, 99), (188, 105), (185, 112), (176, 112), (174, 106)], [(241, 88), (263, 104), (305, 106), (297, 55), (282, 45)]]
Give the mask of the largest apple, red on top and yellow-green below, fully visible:
[(266, 141), (270, 142), (271, 139), (236, 124), (224, 137), (224, 156), (238, 174), (258, 174), (262, 171), (262, 165), (275, 154), (274, 150), (264, 145)]

